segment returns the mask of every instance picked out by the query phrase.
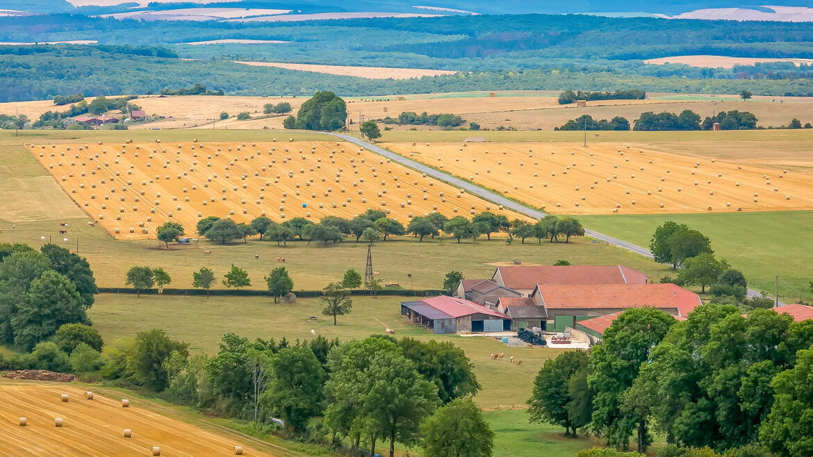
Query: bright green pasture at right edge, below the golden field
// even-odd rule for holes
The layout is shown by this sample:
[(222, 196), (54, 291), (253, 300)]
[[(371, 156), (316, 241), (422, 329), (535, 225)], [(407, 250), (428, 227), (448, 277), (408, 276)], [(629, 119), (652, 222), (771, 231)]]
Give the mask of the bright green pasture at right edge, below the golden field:
[(711, 238), (715, 254), (740, 269), (753, 289), (772, 295), (779, 276), (780, 300), (813, 300), (810, 254), (813, 211), (772, 211), (681, 215), (580, 215), (585, 227), (649, 246), (666, 220), (688, 224)]

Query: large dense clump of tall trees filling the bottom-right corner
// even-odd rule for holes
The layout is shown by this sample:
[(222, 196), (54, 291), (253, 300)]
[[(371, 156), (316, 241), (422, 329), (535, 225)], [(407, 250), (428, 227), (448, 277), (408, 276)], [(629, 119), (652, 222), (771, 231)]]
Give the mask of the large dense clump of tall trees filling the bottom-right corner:
[(813, 321), (772, 310), (706, 304), (678, 322), (630, 309), (589, 352), (545, 363), (528, 413), (609, 446), (627, 449), (633, 436), (639, 452), (663, 433), (674, 445), (664, 456), (706, 446), (727, 456), (811, 455), (811, 344)]

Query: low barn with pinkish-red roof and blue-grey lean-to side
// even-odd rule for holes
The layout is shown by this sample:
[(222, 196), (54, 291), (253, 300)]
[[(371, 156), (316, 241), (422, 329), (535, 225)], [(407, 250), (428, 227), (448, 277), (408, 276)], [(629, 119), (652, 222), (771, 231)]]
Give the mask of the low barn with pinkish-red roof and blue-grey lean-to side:
[(511, 328), (508, 316), (464, 298), (438, 296), (401, 302), (401, 314), (433, 333), (502, 332)]

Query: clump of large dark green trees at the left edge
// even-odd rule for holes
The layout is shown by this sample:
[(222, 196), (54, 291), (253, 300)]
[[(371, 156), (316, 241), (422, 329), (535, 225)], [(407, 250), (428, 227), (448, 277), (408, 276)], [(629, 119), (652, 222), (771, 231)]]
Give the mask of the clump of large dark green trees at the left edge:
[(89, 324), (96, 293), (85, 258), (53, 244), (0, 244), (0, 342), (30, 350), (63, 324)]

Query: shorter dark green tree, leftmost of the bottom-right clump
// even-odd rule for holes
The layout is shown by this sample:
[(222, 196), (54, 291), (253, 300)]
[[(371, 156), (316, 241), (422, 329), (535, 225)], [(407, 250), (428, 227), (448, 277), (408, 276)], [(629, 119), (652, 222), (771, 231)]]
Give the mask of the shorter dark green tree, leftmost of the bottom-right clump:
[(588, 364), (589, 357), (581, 350), (563, 352), (555, 359), (547, 359), (533, 381), (533, 392), (528, 398), (530, 421), (559, 425), (564, 427), (566, 437), (576, 437), (576, 429), (588, 424), (590, 417), (572, 414), (570, 382), (577, 373), (586, 370)]

